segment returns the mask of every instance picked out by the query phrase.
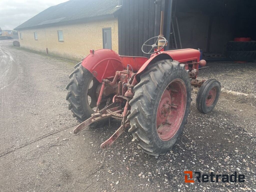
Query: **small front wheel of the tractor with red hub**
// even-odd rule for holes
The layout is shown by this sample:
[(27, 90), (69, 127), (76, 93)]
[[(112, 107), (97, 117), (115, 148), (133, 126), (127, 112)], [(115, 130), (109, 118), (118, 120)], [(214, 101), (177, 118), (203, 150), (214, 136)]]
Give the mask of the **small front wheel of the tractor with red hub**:
[(196, 97), (196, 107), (201, 113), (210, 113), (220, 97), (220, 82), (208, 79), (200, 87)]

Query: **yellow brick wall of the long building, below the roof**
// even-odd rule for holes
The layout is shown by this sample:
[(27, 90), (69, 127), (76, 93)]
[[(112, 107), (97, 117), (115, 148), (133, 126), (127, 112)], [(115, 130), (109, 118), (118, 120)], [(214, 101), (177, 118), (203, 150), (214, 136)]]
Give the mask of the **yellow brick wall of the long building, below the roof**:
[[(111, 28), (112, 49), (118, 53), (117, 18), (93, 21), (83, 24), (62, 25), (46, 28), (19, 30), (20, 47), (45, 52), (50, 55), (80, 60), (89, 54), (90, 49), (102, 49), (102, 28)], [(63, 32), (63, 42), (58, 41), (58, 30)], [(37, 32), (37, 39), (34, 32)], [(20, 39), (20, 33), (22, 38)]]

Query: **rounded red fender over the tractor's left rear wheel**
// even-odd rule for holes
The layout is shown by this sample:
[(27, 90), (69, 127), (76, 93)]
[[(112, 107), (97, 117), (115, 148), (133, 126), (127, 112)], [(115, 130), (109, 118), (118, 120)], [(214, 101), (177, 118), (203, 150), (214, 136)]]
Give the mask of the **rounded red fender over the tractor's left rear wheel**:
[(92, 51), (81, 64), (90, 71), (99, 82), (107, 77), (114, 77), (116, 71), (124, 70), (119, 55), (111, 49)]

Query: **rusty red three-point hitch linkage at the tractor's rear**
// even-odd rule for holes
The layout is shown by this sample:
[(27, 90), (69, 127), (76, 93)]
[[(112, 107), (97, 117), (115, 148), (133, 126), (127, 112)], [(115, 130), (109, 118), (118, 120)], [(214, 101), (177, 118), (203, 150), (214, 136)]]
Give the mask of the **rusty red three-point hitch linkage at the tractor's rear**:
[[(135, 74), (136, 73), (129, 70), (128, 65), (126, 70), (116, 71), (115, 77), (112, 81), (111, 79), (102, 79), (102, 86), (100, 89), (95, 113), (91, 114), (91, 117), (89, 119), (79, 124), (73, 130), (73, 133), (77, 134), (92, 123), (104, 119), (114, 118), (122, 120), (121, 126), (108, 140), (101, 144), (101, 148), (104, 149), (107, 146), (112, 145), (114, 141), (125, 131), (125, 129), (130, 126), (129, 120), (127, 120), (127, 114), (129, 113), (129, 101), (134, 95), (132, 89), (136, 84), (136, 79), (134, 78)], [(121, 81), (117, 82), (118, 80)], [(108, 87), (106, 87), (105, 84)], [(99, 110), (99, 106), (101, 104), (102, 96), (105, 89), (111, 89), (117, 94), (113, 97), (111, 104), (111, 100), (109, 98), (106, 106), (103, 109)]]

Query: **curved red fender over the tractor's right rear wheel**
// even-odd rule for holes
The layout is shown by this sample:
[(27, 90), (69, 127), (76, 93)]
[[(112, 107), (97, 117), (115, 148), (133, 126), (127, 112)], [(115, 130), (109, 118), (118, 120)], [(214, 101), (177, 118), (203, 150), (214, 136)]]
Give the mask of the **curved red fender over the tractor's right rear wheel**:
[(137, 80), (137, 82), (140, 82), (140, 73), (142, 73), (143, 71), (146, 70), (146, 68), (150, 65), (152, 65), (153, 63), (155, 63), (156, 61), (159, 60), (164, 60), (164, 59), (171, 59), (173, 60), (173, 55), (170, 53), (161, 53), (161, 54), (157, 54), (157, 55), (153, 55), (152, 57), (150, 57), (150, 59), (148, 59), (142, 66), (141, 68), (138, 70), (135, 78)]

